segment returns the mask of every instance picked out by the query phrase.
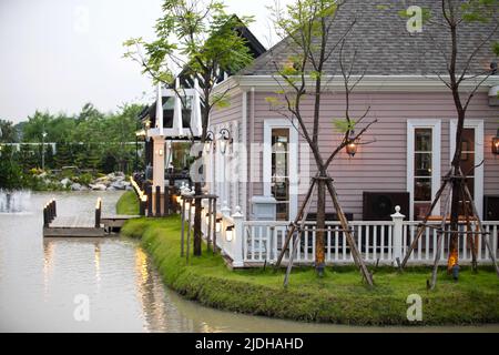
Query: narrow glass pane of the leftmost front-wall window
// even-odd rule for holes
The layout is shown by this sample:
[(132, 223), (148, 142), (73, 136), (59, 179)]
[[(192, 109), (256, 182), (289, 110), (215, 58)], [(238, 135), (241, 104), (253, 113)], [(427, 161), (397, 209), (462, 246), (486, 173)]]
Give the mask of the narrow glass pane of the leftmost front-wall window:
[(272, 130), (272, 195), (277, 200), (277, 220), (289, 216), (289, 129)]

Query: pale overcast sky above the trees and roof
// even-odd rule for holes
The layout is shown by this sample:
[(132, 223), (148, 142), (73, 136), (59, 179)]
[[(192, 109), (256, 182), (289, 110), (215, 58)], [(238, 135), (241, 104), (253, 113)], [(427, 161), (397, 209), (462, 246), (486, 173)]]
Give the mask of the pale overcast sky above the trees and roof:
[[(292, 0), (281, 0), (281, 3)], [(0, 0), (0, 119), (19, 122), (35, 110), (79, 112), (85, 102), (113, 111), (152, 98), (150, 80), (122, 58), (124, 40), (153, 39), (162, 0)], [(225, 0), (255, 16), (251, 30), (268, 48), (266, 6)], [(144, 95), (145, 93), (145, 95)]]

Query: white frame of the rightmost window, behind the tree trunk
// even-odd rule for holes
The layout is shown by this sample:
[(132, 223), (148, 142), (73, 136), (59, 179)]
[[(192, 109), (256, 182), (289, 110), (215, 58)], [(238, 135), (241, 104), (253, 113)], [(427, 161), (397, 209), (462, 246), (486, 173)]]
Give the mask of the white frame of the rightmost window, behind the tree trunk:
[[(454, 154), (456, 154), (456, 133), (457, 120), (450, 120), (450, 156), (449, 166), (452, 163)], [(483, 120), (466, 120), (465, 129), (475, 129), (475, 163), (479, 164), (485, 159), (485, 133)], [(483, 217), (483, 165), (475, 169), (475, 205), (477, 206), (478, 215)]]

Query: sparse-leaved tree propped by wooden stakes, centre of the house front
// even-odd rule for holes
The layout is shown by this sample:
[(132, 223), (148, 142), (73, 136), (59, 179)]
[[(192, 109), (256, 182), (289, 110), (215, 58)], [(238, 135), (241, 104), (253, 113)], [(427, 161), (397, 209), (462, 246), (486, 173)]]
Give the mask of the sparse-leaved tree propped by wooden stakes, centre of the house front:
[[(343, 31), (340, 33), (335, 27), (337, 16), (345, 2), (297, 0), (287, 7), (287, 11), (282, 11), (277, 6), (273, 11), (278, 33), (284, 38), (292, 54), (284, 65), (278, 58), (273, 60), (277, 72), (275, 80), (281, 85), (281, 91), (277, 97), (268, 98), (268, 101), (275, 111), (281, 112), (294, 123), (299, 134), (308, 143), (317, 166), (317, 176), (310, 190), (317, 189), (315, 264), (319, 275), (325, 266), (326, 192), (333, 199), (344, 233), (347, 234), (348, 240), (352, 237), (345, 214), (337, 200), (336, 190), (329, 178), (328, 168), (348, 145), (358, 144), (364, 133), (376, 122), (364, 122), (370, 108), (367, 108), (360, 116), (354, 116), (350, 112), (350, 95), (363, 80), (365, 72), (354, 74), (357, 50), (348, 43), (348, 36), (355, 28), (357, 19), (349, 19), (346, 28), (339, 27)], [(332, 62), (334, 62), (333, 71), (327, 69)], [(323, 98), (330, 93), (330, 83), (335, 80), (343, 82), (345, 95), (345, 116), (334, 122), (336, 129), (343, 134), (343, 139), (333, 152), (326, 153), (319, 149), (320, 129), (324, 123), (320, 120), (320, 113)], [(307, 126), (308, 118), (303, 108), (307, 100), (312, 100), (314, 106), (312, 129)], [(309, 192), (307, 200), (310, 195)], [(306, 217), (304, 215), (307, 202), (302, 205), (297, 220)], [(353, 239), (352, 242), (355, 244)], [(366, 271), (357, 247), (355, 245), (350, 245), (350, 247), (353, 247), (354, 260), (361, 268), (365, 278), (371, 284), (370, 274)], [(278, 264), (281, 261), (282, 256)]]

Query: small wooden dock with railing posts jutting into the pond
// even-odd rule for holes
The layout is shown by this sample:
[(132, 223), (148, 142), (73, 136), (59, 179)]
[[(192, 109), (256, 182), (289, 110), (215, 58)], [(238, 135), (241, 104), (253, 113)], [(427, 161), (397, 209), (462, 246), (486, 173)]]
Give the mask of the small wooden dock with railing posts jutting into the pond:
[(43, 237), (104, 237), (139, 216), (111, 215), (102, 217), (102, 200), (95, 205), (95, 216), (58, 216), (57, 202), (50, 201), (43, 209)]

